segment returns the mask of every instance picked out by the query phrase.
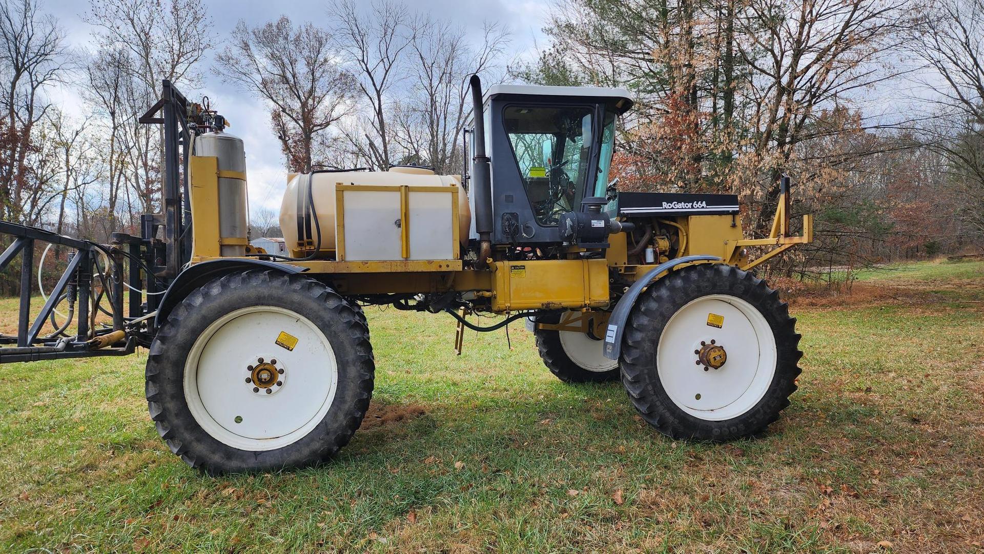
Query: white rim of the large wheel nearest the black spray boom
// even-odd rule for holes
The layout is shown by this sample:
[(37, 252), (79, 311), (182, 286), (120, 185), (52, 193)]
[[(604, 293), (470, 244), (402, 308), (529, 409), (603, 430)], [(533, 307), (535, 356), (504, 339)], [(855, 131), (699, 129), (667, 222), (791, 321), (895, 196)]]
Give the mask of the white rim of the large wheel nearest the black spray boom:
[[(288, 350), (281, 333), (297, 339)], [(276, 359), (276, 394), (257, 394), (247, 367)], [(227, 446), (269, 451), (293, 444), (324, 419), (338, 389), (335, 351), (310, 320), (276, 306), (230, 312), (195, 340), (185, 363), (185, 400), (202, 428)], [(263, 392), (263, 391), (261, 391)]]

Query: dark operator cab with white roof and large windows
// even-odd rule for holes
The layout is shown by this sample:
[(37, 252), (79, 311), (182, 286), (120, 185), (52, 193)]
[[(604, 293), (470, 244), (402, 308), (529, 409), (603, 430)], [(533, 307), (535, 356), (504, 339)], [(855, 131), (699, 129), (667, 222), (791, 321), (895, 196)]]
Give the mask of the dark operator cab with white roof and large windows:
[[(582, 212), (584, 198), (607, 196), (615, 122), (630, 107), (625, 89), (491, 87), (483, 116), (492, 242), (563, 242), (563, 215)], [(469, 129), (473, 133), (473, 121)], [(469, 158), (475, 155), (470, 143)], [(471, 233), (477, 236), (474, 227)]]

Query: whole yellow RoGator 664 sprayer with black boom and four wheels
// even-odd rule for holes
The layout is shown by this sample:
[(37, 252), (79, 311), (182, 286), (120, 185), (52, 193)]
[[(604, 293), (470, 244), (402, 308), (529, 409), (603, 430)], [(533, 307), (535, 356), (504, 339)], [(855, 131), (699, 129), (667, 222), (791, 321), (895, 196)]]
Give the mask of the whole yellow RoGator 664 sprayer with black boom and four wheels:
[[(288, 252), (274, 255), (247, 240), (242, 141), (164, 82), (141, 118), (163, 125), (163, 213), (143, 216), (141, 236), (100, 245), (0, 223), (13, 239), (0, 267), (22, 259), (19, 332), (0, 336), (0, 361), (149, 348), (157, 431), (210, 472), (318, 462), (348, 442), (373, 390), (365, 305), (446, 313), (459, 349), (464, 329), (523, 319), (554, 375), (621, 379), (671, 437), (764, 430), (796, 389), (800, 336), (749, 270), (811, 240), (809, 216), (790, 236), (788, 181), (769, 237), (746, 240), (736, 196), (619, 192), (609, 180), (627, 91), (483, 95), (472, 77), (471, 92), (463, 175), (291, 175), (279, 217)], [(74, 255), (35, 314), (37, 242)], [(764, 253), (750, 261), (750, 246)], [(59, 306), (74, 327), (53, 317)], [(483, 327), (476, 313), (506, 318)], [(49, 318), (60, 329), (42, 335)]]

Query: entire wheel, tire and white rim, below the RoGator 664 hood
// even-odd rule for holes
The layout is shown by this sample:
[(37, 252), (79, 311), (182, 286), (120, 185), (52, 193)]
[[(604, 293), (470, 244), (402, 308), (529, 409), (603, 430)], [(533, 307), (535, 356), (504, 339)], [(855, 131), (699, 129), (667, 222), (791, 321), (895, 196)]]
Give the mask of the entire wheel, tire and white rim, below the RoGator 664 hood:
[[(795, 324), (778, 293), (750, 273), (724, 264), (681, 269), (650, 285), (630, 313), (622, 382), (643, 418), (675, 439), (755, 435), (796, 390), (803, 352)], [(726, 350), (719, 368), (698, 355), (711, 340)]]

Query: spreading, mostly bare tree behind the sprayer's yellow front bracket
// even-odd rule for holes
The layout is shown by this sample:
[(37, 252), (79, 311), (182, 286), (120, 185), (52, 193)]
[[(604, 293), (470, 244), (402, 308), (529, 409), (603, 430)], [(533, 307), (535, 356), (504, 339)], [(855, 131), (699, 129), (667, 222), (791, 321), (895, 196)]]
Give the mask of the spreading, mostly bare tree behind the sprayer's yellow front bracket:
[[(747, 3), (737, 41), (739, 55), (752, 68), (748, 89), (756, 106), (749, 121), (754, 155), (746, 167), (767, 174), (756, 229), (769, 224), (779, 176), (789, 168), (794, 147), (845, 130), (814, 125), (818, 111), (850, 102), (897, 74), (880, 62), (901, 40), (899, 31), (911, 25), (906, 5), (905, 0)], [(749, 181), (747, 173), (743, 177)]]

